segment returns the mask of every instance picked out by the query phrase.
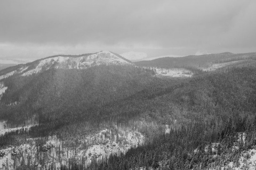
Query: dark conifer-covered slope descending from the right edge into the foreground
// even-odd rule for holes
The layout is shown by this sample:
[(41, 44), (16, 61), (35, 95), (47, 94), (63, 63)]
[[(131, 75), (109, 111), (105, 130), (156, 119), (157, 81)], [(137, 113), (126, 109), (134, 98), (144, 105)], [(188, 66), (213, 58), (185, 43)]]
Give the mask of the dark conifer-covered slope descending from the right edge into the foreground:
[[(228, 168), (227, 164), (239, 167), (240, 161), (242, 169), (255, 168), (246, 165), (246, 159), (251, 161), (255, 149), (255, 75), (255, 66), (232, 67), (153, 94), (134, 96), (118, 108), (109, 107), (109, 113), (115, 113), (113, 117), (126, 121), (131, 118), (131, 112), (137, 113), (131, 122), (140, 120), (142, 123), (138, 121), (135, 127), (146, 133), (148, 139), (144, 146), (130, 149), (121, 157), (110, 157), (102, 166), (106, 169), (218, 169)], [(126, 112), (125, 108), (132, 109)], [(157, 123), (152, 122), (158, 122), (158, 129), (153, 128)], [(169, 134), (163, 134), (165, 124), (170, 125)], [(152, 131), (155, 132), (150, 135)], [(246, 134), (245, 142), (241, 140), (241, 132)], [(209, 149), (211, 143), (216, 145)], [(87, 169), (100, 169), (102, 166), (98, 165)]]

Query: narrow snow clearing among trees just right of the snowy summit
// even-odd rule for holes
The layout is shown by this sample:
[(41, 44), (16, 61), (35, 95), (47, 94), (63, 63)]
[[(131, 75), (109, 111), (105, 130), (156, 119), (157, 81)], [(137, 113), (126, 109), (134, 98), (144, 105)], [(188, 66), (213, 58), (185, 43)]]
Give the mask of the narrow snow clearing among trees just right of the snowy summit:
[(163, 75), (173, 78), (192, 77), (193, 73), (186, 69), (162, 69), (154, 68), (157, 75)]

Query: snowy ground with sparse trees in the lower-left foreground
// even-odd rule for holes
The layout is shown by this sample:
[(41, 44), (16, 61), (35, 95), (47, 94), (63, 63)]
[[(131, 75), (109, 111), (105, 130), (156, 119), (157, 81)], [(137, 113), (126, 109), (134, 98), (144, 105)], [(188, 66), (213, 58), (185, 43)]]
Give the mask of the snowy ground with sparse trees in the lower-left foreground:
[[(46, 149), (43, 152), (47, 152), (47, 156), (44, 157), (45, 164), (42, 165), (36, 159), (36, 156), (38, 154), (41, 155), (42, 151), (38, 150), (39, 148), (36, 147), (35, 141), (43, 138), (29, 138), (27, 139), (28, 142), (26, 144), (17, 147), (11, 146), (9, 148), (0, 150), (0, 154), (4, 153), (4, 156), (0, 157), (0, 164), (3, 164), (2, 167), (0, 165), (0, 169), (6, 166), (6, 160), (8, 162), (9, 169), (13, 169), (14, 165), (12, 154), (17, 152), (18, 154), (23, 155), (21, 158), (17, 159), (18, 165), (22, 163), (23, 158), (25, 159), (25, 163), (27, 163), (28, 158), (30, 157), (30, 165), (34, 164), (35, 166), (41, 167), (42, 169), (48, 169), (49, 167), (51, 167), (51, 164), (53, 163), (55, 164), (57, 169), (60, 169), (61, 164), (68, 164), (69, 158), (76, 158), (78, 160), (82, 160), (82, 157), (84, 157), (87, 161), (87, 164), (90, 164), (92, 159), (99, 160), (103, 156), (107, 158), (111, 154), (118, 155), (121, 152), (125, 153), (127, 149), (131, 147), (137, 147), (138, 145), (142, 145), (142, 143), (145, 141), (145, 137), (143, 137), (141, 133), (131, 130), (118, 130), (118, 137), (119, 139), (117, 138), (116, 133), (112, 134), (112, 132), (109, 129), (103, 129), (99, 133), (89, 135), (85, 140), (81, 140), (81, 146), (78, 146), (76, 149), (73, 149), (64, 147), (62, 145), (63, 142), (60, 139), (58, 139), (55, 135), (49, 136), (46, 138), (46, 143), (42, 146), (43, 148)], [(88, 149), (84, 149), (84, 147), (82, 146), (84, 142), (86, 142), (86, 146), (89, 146)], [(57, 157), (59, 148), (61, 148), (61, 163), (59, 163), (59, 158)]]

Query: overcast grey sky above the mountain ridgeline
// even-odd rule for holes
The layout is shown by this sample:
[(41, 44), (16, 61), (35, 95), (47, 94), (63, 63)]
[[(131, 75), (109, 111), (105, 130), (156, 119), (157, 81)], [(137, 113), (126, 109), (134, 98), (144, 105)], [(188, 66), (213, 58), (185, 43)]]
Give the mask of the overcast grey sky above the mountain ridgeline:
[(0, 59), (256, 52), (255, 9), (255, 0), (1, 0)]

